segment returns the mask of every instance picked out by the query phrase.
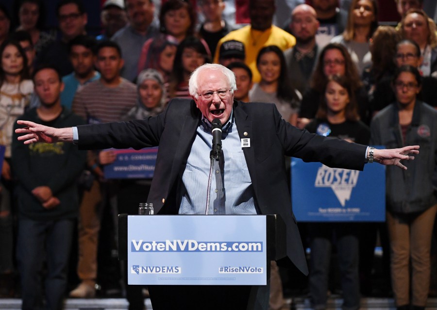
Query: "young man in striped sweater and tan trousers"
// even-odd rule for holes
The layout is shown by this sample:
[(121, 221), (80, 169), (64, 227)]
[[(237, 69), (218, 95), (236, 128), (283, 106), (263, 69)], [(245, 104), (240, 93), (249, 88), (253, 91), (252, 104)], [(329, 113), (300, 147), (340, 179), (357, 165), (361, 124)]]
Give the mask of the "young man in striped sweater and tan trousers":
[[(101, 41), (96, 48), (96, 67), (99, 80), (84, 85), (73, 99), (72, 109), (89, 124), (120, 121), (136, 104), (136, 86), (120, 76), (123, 67), (121, 50), (117, 43)], [(94, 297), (97, 280), (97, 248), (101, 224), (101, 201), (110, 193), (106, 187), (102, 167), (115, 160), (112, 151), (88, 152), (88, 168), (96, 176), (89, 191), (84, 192), (80, 206), (79, 225), (79, 286), (71, 297)], [(106, 200), (106, 199), (104, 199)]]

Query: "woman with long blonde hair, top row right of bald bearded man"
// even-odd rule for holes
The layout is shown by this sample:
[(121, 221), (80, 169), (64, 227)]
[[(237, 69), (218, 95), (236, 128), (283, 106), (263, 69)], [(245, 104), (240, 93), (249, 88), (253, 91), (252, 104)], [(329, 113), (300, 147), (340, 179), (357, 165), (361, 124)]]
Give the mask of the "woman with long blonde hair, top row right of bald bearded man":
[(353, 0), (349, 9), (345, 31), (331, 42), (344, 44), (351, 54), (358, 73), (361, 75), (366, 65), (364, 55), (369, 52), (369, 39), (378, 27), (378, 3), (376, 0)]

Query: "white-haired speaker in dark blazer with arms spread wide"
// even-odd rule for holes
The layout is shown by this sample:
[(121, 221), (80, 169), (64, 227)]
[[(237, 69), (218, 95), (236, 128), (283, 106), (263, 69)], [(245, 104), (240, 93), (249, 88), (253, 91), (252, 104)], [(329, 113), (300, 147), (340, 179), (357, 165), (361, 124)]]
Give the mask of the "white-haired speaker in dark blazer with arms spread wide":
[[(202, 188), (207, 188), (211, 164), (211, 123), (218, 119), (223, 125), (222, 153), (220, 161), (213, 161), (215, 189), (210, 200), (215, 207), (209, 209), (208, 215), (279, 214), (286, 225), (288, 259), (284, 260), (308, 274), (291, 208), (285, 155), (346, 169), (362, 170), (366, 161), (403, 168), (400, 160), (413, 159), (409, 155), (418, 154), (418, 147), (381, 150), (311, 134), (282, 119), (274, 104), (234, 100), (235, 89), (235, 75), (231, 70), (218, 64), (205, 64), (191, 74), (192, 98), (172, 99), (157, 116), (63, 129), (19, 121), (16, 133), (24, 135), (17, 139), (25, 144), (62, 140), (74, 142), (80, 149), (159, 146), (147, 201), (153, 203), (156, 214), (204, 214), (208, 195)], [(242, 147), (243, 138), (251, 140), (250, 146)], [(152, 306), (156, 309), (188, 309), (193, 299), (204, 308), (214, 305), (215, 309), (229, 309), (232, 305), (233, 309), (245, 309), (247, 302), (235, 302), (241, 290), (246, 289), (251, 290), (252, 296), (256, 294), (257, 309), (268, 309), (269, 281), (266, 286), (249, 288), (149, 286)]]

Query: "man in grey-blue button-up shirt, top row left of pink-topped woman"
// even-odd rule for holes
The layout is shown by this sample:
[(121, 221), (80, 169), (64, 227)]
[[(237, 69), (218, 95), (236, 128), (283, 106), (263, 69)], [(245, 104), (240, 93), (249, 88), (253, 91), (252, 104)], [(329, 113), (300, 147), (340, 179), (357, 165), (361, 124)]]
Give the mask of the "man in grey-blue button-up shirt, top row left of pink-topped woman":
[(121, 76), (133, 82), (138, 72), (138, 60), (144, 43), (158, 33), (158, 22), (153, 19), (155, 5), (152, 0), (125, 0), (129, 24), (115, 33), (116, 42), (123, 54)]

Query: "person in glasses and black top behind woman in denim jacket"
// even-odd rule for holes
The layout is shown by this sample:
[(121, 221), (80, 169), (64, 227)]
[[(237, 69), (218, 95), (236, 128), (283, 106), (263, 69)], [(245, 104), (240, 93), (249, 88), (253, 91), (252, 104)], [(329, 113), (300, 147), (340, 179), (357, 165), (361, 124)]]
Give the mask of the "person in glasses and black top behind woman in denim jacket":
[[(398, 68), (402, 65), (411, 65), (419, 68), (422, 62), (419, 45), (412, 40), (402, 40), (396, 46), (396, 54), (393, 61)], [(437, 79), (433, 77), (421, 77), (421, 86), (417, 98), (433, 107), (437, 107)], [(373, 98), (370, 101), (370, 108), (371, 111), (373, 111), (373, 115), (395, 100), (396, 96), (392, 87), (391, 78), (387, 77), (382, 79), (376, 84)]]

